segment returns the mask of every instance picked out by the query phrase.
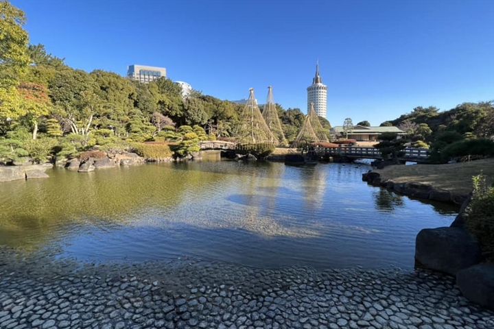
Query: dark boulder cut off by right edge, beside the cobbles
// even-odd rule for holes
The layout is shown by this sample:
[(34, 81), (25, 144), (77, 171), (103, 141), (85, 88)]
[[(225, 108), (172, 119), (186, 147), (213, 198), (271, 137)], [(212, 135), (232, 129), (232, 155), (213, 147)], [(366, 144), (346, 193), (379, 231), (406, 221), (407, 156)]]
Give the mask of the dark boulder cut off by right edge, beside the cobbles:
[(479, 264), (456, 273), (464, 297), (494, 310), (494, 264)]

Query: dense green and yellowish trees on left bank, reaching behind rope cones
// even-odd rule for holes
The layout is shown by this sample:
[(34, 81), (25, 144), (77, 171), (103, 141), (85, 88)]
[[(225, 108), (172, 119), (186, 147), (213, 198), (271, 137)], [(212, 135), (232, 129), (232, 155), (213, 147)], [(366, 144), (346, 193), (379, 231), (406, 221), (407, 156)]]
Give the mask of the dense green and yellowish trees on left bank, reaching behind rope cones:
[[(198, 141), (233, 135), (244, 104), (198, 90), (183, 99), (165, 77), (143, 84), (102, 69), (72, 69), (43, 45), (29, 44), (22, 10), (8, 1), (0, 10), (0, 162), (73, 158), (90, 149), (118, 153), (147, 141), (187, 154), (187, 145), (190, 151)], [(305, 114), (276, 108), (293, 141)]]

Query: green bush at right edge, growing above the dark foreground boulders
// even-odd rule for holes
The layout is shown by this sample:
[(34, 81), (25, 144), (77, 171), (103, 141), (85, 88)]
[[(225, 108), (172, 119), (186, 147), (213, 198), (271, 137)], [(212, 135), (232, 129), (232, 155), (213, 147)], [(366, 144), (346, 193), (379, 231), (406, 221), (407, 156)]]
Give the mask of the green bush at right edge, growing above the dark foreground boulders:
[(494, 263), (494, 187), (485, 175), (473, 177), (473, 195), (465, 211), (467, 229), (478, 239), (482, 253)]

